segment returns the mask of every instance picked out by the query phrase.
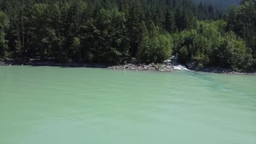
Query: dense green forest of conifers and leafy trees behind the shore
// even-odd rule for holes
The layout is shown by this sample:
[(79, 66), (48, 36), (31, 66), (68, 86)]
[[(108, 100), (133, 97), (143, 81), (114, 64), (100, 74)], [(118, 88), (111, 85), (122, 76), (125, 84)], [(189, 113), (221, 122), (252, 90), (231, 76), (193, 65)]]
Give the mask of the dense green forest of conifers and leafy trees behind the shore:
[[(233, 1), (220, 2), (228, 8)], [(243, 0), (226, 10), (218, 4), (0, 0), (0, 60), (161, 63), (176, 55), (198, 67), (255, 68), (256, 2)]]

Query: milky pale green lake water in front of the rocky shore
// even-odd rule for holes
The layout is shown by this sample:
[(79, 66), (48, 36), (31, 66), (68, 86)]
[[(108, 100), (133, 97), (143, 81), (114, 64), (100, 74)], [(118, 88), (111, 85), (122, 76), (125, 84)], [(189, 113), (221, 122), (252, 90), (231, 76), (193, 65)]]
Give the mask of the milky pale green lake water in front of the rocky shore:
[(0, 144), (256, 143), (256, 76), (0, 67)]

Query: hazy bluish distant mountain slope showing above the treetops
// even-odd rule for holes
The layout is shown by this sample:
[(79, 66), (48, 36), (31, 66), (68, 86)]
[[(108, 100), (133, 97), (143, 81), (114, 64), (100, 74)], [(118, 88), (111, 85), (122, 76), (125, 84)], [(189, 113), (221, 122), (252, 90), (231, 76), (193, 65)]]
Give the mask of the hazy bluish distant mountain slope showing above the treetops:
[(220, 8), (220, 9), (226, 9), (229, 7), (229, 5), (234, 4), (238, 5), (241, 0), (193, 0), (196, 3), (207, 3), (207, 4), (213, 4), (214, 6)]

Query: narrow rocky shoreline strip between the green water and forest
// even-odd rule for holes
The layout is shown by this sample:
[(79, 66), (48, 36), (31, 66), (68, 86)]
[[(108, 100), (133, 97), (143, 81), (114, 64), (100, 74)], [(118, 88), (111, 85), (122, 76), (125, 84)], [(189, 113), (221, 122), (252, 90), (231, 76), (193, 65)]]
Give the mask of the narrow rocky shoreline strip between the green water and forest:
[(232, 69), (223, 69), (220, 67), (207, 67), (199, 68), (195, 63), (186, 63), (181, 65), (177, 62), (177, 59), (173, 56), (172, 58), (166, 60), (164, 63), (150, 63), (150, 64), (122, 64), (122, 65), (108, 65), (108, 64), (89, 64), (89, 63), (60, 63), (55, 62), (54, 58), (46, 58), (44, 62), (40, 58), (27, 59), (26, 61), (14, 61), (14, 59), (8, 59), (8, 61), (1, 62), (0, 65), (10, 66), (10, 65), (32, 65), (32, 66), (49, 66), (49, 67), (85, 67), (85, 68), (105, 68), (105, 69), (127, 69), (135, 71), (144, 71), (144, 70), (156, 70), (159, 72), (171, 72), (173, 70), (194, 70), (202, 71), (205, 73), (217, 73), (217, 74), (237, 74), (237, 75), (256, 75), (256, 70), (250, 71), (234, 71)]

